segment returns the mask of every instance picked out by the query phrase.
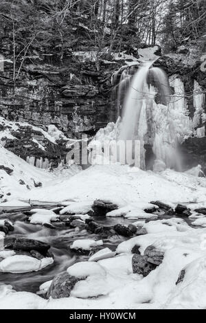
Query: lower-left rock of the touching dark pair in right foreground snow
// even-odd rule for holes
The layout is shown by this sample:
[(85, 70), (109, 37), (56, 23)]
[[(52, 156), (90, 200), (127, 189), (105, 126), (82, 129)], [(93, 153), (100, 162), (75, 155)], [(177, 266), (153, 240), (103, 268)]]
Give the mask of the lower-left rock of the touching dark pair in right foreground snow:
[(144, 277), (150, 274), (150, 271), (157, 268), (157, 265), (149, 263), (147, 256), (141, 256), (140, 254), (134, 254), (132, 260), (133, 273), (143, 275)]

